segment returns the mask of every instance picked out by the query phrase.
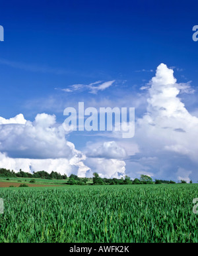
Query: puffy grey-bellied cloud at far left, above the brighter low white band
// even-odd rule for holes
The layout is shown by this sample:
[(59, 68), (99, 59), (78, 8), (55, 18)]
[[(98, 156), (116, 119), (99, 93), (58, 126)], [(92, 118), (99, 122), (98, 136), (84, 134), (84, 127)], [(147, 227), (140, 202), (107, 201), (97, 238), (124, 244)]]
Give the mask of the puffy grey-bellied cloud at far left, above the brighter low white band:
[(1, 152), (11, 157), (34, 159), (69, 159), (73, 156), (63, 124), (56, 123), (55, 115), (38, 114), (33, 122), (25, 121), (22, 114), (18, 116), (4, 120), (6, 124), (0, 125)]

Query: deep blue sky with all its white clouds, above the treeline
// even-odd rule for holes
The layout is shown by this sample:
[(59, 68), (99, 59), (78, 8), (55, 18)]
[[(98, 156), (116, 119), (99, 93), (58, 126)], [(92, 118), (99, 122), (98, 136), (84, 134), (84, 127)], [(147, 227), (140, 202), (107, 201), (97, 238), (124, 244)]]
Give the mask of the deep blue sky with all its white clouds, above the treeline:
[[(197, 182), (197, 1), (0, 7), (0, 167)], [(66, 131), (64, 110), (79, 117), (79, 102), (134, 107), (134, 136)]]

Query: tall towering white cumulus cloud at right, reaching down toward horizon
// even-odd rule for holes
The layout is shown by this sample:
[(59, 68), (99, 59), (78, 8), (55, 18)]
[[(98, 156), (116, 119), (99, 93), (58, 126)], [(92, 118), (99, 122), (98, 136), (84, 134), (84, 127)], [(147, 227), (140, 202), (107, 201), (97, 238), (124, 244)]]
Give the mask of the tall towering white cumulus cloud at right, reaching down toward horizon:
[[(174, 170), (176, 167), (180, 168), (176, 166), (177, 159), (181, 159), (182, 162), (185, 156), (189, 164), (191, 161), (196, 164), (198, 162), (198, 118), (187, 111), (178, 97), (180, 93), (192, 93), (193, 90), (190, 83), (177, 84), (173, 70), (165, 64), (158, 66), (156, 75), (150, 80), (149, 85), (147, 112), (142, 118), (137, 119), (135, 137), (132, 141), (137, 143), (142, 160), (144, 157), (156, 157), (154, 162), (141, 161), (143, 166), (158, 168), (160, 162), (164, 162), (164, 155), (166, 162), (171, 162), (170, 176), (171, 172), (174, 172), (175, 178), (181, 178), (183, 175), (176, 174)], [(160, 169), (163, 169), (162, 166)], [(167, 168), (164, 169), (168, 171)], [(143, 168), (141, 172), (143, 173)], [(193, 173), (196, 176), (196, 172), (197, 170), (187, 172), (187, 176)], [(140, 172), (132, 170), (131, 175), (134, 173)]]

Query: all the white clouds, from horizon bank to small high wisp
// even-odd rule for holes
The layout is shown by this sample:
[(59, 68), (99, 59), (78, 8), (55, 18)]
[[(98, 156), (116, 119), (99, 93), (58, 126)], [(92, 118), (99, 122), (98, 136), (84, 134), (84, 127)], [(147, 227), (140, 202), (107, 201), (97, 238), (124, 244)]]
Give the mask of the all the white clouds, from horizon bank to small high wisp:
[[(85, 87), (96, 94), (114, 82), (98, 81)], [(73, 85), (65, 92), (82, 88)], [(147, 111), (136, 120), (135, 136), (121, 139), (112, 133), (111, 138), (90, 141), (84, 151), (67, 140), (63, 124), (57, 123), (55, 115), (38, 114), (33, 122), (22, 114), (11, 119), (0, 117), (0, 166), (79, 176), (98, 172), (107, 178), (126, 174), (131, 178), (148, 174), (187, 182), (191, 177), (198, 178), (198, 118), (187, 111), (179, 97), (181, 93), (193, 94), (190, 83), (177, 83), (174, 70), (162, 63), (142, 90), (149, 93)]]

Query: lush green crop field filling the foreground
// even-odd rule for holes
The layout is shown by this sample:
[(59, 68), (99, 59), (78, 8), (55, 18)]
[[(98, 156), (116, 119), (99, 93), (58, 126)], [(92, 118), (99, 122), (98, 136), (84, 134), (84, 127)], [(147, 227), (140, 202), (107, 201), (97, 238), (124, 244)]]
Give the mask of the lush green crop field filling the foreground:
[(198, 184), (0, 188), (0, 242), (198, 242)]

